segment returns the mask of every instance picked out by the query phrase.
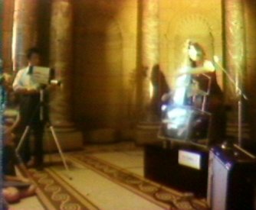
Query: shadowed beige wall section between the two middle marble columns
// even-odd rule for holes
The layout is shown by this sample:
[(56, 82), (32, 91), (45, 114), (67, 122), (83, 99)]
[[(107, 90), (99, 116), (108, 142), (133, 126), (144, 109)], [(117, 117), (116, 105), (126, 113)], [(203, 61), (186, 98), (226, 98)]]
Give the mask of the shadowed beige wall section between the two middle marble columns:
[(136, 0), (74, 1), (74, 114), (84, 128), (128, 126)]

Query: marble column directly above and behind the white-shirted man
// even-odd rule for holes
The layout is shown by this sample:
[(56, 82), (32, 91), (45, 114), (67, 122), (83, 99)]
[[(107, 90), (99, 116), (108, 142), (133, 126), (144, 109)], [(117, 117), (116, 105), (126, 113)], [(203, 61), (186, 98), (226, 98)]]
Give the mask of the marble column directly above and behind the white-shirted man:
[(38, 0), (15, 0), (12, 31), (12, 61), (15, 71), (27, 66), (26, 51), (37, 45), (37, 21)]

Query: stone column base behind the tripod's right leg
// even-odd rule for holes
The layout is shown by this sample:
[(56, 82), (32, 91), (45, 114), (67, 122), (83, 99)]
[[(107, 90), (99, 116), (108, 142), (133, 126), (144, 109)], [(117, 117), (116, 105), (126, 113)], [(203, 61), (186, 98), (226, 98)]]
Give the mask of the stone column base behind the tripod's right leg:
[[(74, 128), (54, 128), (54, 131), (63, 151), (83, 149), (83, 135), (80, 131)], [(44, 152), (57, 152), (57, 146), (49, 128), (44, 132)]]

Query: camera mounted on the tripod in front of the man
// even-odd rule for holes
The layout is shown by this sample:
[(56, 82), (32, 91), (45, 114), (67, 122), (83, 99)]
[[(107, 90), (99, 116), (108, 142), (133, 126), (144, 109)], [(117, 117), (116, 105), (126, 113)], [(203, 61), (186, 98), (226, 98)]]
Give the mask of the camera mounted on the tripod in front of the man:
[(61, 86), (61, 80), (56, 79), (55, 69), (43, 66), (29, 66), (28, 74), (32, 76), (34, 82), (41, 86), (56, 85)]

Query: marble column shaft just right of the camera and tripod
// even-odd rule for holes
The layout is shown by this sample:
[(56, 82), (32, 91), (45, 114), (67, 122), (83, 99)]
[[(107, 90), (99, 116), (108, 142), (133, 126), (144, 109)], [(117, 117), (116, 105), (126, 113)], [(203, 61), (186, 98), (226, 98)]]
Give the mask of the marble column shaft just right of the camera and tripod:
[(55, 126), (71, 126), (71, 68), (73, 11), (71, 1), (53, 0), (51, 8), (50, 62), (61, 79), (61, 88), (51, 94), (51, 122)]

